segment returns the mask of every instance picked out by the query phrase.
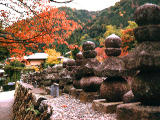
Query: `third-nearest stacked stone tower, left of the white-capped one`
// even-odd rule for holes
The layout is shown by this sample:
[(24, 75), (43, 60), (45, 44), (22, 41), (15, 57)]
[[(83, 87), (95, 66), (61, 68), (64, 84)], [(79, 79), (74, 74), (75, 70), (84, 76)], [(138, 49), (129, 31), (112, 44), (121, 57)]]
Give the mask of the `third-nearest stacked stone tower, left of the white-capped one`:
[(83, 89), (85, 92), (96, 92), (99, 90), (103, 80), (94, 74), (94, 68), (100, 65), (95, 58), (97, 56), (95, 43), (91, 41), (84, 42), (82, 48), (82, 54), (77, 54), (77, 61), (81, 60), (81, 65), (75, 69), (73, 85), (78, 89)]

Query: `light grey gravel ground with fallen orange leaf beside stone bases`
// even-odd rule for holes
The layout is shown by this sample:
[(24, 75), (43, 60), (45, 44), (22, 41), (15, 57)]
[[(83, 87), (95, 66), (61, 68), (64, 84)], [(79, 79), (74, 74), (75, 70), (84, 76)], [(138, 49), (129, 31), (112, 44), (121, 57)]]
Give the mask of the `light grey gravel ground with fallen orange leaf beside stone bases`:
[(50, 102), (53, 107), (52, 120), (116, 120), (115, 114), (96, 112), (92, 110), (91, 103), (81, 103), (67, 94)]

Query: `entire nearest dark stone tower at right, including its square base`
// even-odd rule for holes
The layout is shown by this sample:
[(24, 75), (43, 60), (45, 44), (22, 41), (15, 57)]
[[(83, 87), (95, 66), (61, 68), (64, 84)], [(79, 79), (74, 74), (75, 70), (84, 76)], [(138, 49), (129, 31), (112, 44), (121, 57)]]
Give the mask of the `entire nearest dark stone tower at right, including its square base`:
[(117, 119), (160, 120), (160, 6), (147, 3), (138, 7), (135, 21), (138, 45), (125, 61), (128, 70), (139, 71), (131, 84), (138, 102), (119, 105)]

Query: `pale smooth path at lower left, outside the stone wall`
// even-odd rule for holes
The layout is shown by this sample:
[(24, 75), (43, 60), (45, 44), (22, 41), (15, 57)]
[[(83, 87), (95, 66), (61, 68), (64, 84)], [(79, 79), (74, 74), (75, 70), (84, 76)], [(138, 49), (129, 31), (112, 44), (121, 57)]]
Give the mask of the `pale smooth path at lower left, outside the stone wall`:
[(14, 92), (0, 92), (0, 120), (12, 120)]

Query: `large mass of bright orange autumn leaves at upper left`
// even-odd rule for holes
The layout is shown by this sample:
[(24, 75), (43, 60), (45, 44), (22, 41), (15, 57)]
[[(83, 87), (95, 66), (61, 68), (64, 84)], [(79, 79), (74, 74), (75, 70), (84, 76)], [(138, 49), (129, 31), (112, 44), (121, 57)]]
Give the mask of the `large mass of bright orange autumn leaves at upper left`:
[[(10, 34), (7, 34), (7, 39), (2, 38), (5, 41), (2, 45), (8, 48), (11, 55), (20, 57), (31, 54), (27, 48), (42, 52), (49, 46), (55, 48), (54, 42), (70, 47), (66, 38), (81, 26), (68, 20), (64, 11), (47, 9), (33, 18), (20, 20), (5, 28), (4, 31)], [(45, 44), (43, 50), (39, 49), (38, 43)]]

